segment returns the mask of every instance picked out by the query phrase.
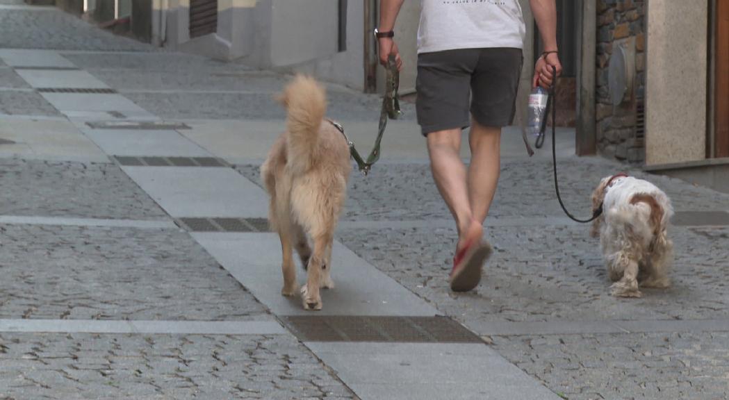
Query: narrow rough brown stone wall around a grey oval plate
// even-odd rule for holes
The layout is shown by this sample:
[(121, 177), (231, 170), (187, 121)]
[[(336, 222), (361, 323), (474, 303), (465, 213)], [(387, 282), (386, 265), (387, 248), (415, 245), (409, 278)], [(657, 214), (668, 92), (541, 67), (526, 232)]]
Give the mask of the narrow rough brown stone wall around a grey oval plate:
[[(628, 162), (645, 160), (643, 137), (636, 135), (636, 109), (645, 93), (645, 10), (644, 0), (597, 1), (598, 150), (606, 157)], [(621, 43), (629, 44), (629, 51), (634, 49), (634, 79), (623, 103), (613, 106), (610, 101), (608, 66), (614, 47)]]

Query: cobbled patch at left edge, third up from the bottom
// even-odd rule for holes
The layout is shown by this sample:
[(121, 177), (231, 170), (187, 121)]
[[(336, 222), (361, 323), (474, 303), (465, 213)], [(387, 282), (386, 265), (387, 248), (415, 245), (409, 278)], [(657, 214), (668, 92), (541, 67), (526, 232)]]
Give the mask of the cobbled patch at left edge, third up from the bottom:
[(0, 215), (160, 219), (167, 215), (113, 164), (0, 159)]

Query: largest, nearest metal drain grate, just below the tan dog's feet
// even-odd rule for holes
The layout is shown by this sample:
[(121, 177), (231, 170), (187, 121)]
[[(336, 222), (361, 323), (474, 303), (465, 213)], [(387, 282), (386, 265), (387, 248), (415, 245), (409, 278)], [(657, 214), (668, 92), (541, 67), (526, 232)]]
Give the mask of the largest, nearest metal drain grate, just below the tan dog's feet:
[(443, 316), (289, 316), (286, 326), (303, 342), (481, 343), (473, 332)]

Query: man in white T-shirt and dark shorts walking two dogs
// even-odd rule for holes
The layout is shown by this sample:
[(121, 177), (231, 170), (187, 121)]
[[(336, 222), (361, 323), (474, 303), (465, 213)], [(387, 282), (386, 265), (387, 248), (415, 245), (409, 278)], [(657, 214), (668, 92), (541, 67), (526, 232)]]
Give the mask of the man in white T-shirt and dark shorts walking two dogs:
[[(379, 58), (402, 59), (394, 39), (405, 0), (380, 0), (375, 30)], [(555, 0), (530, 0), (545, 52), (534, 66), (532, 86), (549, 87), (561, 74)], [(449, 277), (451, 290), (474, 289), (491, 246), (483, 240), (501, 168), (502, 127), (515, 114), (526, 34), (519, 0), (421, 0), (418, 26), (416, 113), (426, 137), (433, 179), (453, 214), (458, 243)], [(470, 114), (470, 118), (469, 118)], [(468, 128), (471, 162), (459, 156)]]

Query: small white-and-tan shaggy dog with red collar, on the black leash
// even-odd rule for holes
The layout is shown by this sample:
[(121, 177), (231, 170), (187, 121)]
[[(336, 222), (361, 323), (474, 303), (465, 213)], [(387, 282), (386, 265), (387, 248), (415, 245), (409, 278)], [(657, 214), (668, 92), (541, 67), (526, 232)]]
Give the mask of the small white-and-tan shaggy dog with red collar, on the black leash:
[(666, 193), (620, 173), (602, 179), (593, 192), (593, 211), (600, 205), (604, 212), (593, 221), (590, 235), (600, 236), (607, 272), (615, 282), (612, 294), (641, 297), (638, 286), (668, 287), (673, 242), (667, 229), (674, 211)]

